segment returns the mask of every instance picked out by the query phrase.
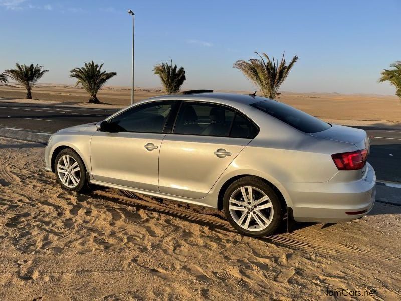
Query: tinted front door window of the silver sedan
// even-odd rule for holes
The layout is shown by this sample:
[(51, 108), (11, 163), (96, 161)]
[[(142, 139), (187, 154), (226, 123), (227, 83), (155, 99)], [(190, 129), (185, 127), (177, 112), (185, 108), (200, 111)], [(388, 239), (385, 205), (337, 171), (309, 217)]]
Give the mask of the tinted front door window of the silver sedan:
[(162, 133), (173, 101), (153, 102), (133, 107), (111, 119), (118, 131)]

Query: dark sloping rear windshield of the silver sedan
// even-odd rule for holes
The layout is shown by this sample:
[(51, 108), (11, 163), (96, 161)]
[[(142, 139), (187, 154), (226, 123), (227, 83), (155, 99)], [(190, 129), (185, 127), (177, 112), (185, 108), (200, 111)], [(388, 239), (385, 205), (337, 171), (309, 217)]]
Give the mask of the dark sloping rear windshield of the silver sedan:
[(323, 122), (316, 117), (275, 100), (263, 100), (253, 103), (251, 106), (305, 133), (316, 133), (331, 127), (330, 124)]

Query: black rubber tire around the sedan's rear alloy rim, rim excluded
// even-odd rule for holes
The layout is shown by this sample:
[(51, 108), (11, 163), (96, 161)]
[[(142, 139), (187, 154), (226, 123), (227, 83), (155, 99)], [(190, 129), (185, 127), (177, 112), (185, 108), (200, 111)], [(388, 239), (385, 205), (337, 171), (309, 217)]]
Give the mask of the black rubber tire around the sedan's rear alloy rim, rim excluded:
[[(229, 210), (230, 197), (236, 190), (238, 190), (239, 188), (241, 188), (243, 186), (252, 186), (252, 187), (255, 187), (255, 188), (261, 190), (263, 193), (265, 193), (269, 197), (270, 202), (272, 203), (273, 217), (271, 219), (270, 224), (263, 230), (260, 230), (260, 231), (246, 230), (243, 227), (239, 226), (230, 214), (230, 210)], [(225, 191), (224, 196), (223, 196), (223, 209), (224, 209), (226, 218), (238, 232), (240, 232), (241, 234), (244, 234), (244, 235), (252, 236), (252, 237), (262, 237), (262, 236), (267, 236), (267, 235), (274, 233), (275, 231), (277, 231), (277, 228), (280, 226), (281, 222), (283, 221), (283, 216), (284, 216), (284, 212), (283, 212), (284, 208), (283, 208), (276, 192), (265, 181), (263, 181), (262, 179), (260, 179), (258, 177), (254, 177), (254, 176), (243, 177), (230, 184), (230, 186), (227, 188), (227, 190)]]

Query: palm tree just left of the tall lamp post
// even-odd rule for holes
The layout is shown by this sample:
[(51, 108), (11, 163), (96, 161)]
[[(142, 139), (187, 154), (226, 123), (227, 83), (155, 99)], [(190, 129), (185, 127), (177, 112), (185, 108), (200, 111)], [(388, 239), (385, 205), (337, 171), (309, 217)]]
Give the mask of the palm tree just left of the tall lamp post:
[(97, 99), (97, 92), (103, 85), (113, 76), (117, 75), (116, 72), (101, 71), (103, 64), (98, 65), (93, 61), (85, 63), (85, 67), (74, 68), (70, 71), (70, 77), (77, 79), (77, 86), (81, 84), (84, 89), (91, 95), (89, 98), (90, 103), (100, 103)]

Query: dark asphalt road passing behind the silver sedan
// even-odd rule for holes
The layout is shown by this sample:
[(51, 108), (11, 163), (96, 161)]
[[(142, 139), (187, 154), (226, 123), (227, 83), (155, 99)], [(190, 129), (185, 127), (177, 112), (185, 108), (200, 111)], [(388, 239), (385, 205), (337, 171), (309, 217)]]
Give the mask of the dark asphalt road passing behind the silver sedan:
[[(69, 126), (97, 122), (117, 110), (0, 102), (0, 126), (53, 133)], [(401, 182), (401, 130), (360, 127), (368, 133), (368, 161), (382, 181)]]

